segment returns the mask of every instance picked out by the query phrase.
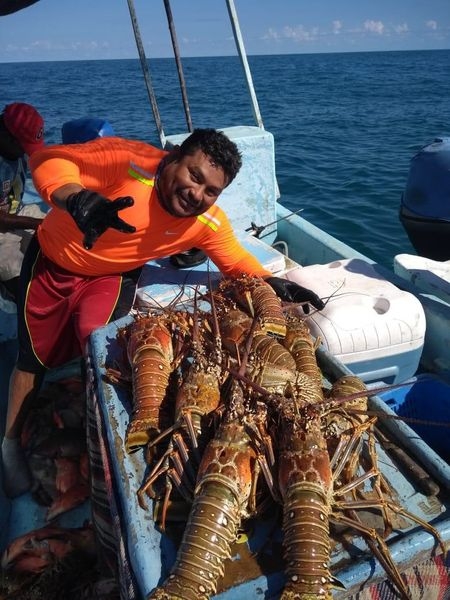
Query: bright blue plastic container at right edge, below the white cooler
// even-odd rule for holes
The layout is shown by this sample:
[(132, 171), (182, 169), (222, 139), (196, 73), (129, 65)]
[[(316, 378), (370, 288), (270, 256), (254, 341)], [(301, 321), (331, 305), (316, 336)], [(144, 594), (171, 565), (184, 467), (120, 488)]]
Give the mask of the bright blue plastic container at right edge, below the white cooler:
[[(405, 386), (379, 393), (378, 396), (397, 415), (405, 417), (406, 423), (430, 448), (450, 462), (450, 384), (448, 382), (435, 375), (423, 374), (414, 377)], [(415, 422), (416, 419), (421, 422)]]

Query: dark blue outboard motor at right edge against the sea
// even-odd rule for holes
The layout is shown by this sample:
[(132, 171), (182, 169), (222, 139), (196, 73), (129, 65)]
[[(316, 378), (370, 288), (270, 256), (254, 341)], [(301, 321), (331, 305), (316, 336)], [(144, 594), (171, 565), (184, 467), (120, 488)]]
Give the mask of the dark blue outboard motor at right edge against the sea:
[(436, 138), (412, 158), (400, 221), (419, 255), (450, 259), (450, 138)]

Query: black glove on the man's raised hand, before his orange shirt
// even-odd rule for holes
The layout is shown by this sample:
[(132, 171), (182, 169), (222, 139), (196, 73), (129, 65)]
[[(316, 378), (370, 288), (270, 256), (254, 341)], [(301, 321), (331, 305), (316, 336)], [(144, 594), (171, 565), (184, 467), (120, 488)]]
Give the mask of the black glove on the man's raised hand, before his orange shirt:
[(67, 198), (67, 210), (78, 229), (84, 233), (83, 245), (86, 250), (90, 250), (109, 227), (123, 233), (136, 231), (136, 227), (125, 223), (117, 216), (119, 210), (133, 206), (133, 204), (134, 200), (131, 196), (107, 200), (90, 190), (81, 190)]

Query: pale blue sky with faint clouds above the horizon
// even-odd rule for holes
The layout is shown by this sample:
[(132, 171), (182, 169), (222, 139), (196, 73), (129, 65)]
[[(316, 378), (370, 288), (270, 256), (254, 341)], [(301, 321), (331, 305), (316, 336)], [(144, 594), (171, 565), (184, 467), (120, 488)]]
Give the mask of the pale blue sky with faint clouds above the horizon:
[[(147, 58), (173, 56), (163, 0), (131, 4)], [(236, 54), (225, 0), (170, 5), (182, 57)], [(234, 0), (234, 5), (249, 55), (450, 48), (450, 0)], [(137, 57), (127, 0), (39, 0), (0, 16), (0, 63)]]

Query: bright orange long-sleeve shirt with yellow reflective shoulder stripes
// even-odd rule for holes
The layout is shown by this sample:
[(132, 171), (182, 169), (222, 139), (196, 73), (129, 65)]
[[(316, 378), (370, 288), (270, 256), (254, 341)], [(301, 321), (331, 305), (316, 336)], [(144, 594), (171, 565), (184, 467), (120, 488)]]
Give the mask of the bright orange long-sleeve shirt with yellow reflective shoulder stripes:
[(223, 210), (214, 205), (197, 217), (166, 212), (157, 197), (154, 178), (164, 150), (122, 138), (99, 138), (84, 144), (51, 146), (30, 158), (33, 182), (43, 200), (69, 183), (106, 198), (132, 196), (134, 205), (119, 216), (135, 233), (107, 229), (91, 250), (69, 213), (54, 208), (38, 229), (43, 253), (61, 267), (87, 276), (121, 273), (151, 259), (201, 248), (225, 275), (269, 276), (259, 261), (236, 239)]

